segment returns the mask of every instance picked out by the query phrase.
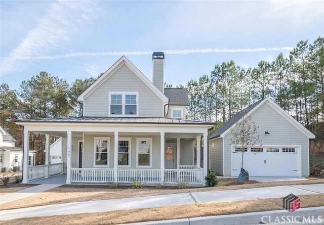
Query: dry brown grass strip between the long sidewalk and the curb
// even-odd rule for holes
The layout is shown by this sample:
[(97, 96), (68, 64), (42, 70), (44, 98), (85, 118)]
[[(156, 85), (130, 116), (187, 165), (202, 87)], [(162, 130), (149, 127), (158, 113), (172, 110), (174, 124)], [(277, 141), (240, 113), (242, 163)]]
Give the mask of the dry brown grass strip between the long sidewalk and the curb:
[[(301, 207), (323, 206), (324, 194), (302, 195)], [(165, 219), (179, 219), (200, 216), (214, 216), (247, 212), (261, 212), (281, 210), (282, 198), (258, 199), (251, 201), (221, 202), (209, 204), (192, 204), (151, 209), (118, 210), (104, 213), (85, 213), (73, 215), (57, 215), (47, 217), (33, 217), (0, 221), (0, 224), (12, 225), (44, 225), (44, 224), (118, 224), (130, 222), (156, 221)], [(260, 218), (261, 222), (261, 218)]]

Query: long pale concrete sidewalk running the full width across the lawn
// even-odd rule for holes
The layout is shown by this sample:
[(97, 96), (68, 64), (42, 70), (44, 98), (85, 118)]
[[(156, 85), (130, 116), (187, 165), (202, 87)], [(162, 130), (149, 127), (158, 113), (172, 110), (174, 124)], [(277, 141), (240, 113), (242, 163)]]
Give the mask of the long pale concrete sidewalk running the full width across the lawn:
[(106, 212), (115, 210), (187, 205), (195, 203), (231, 202), (241, 200), (255, 200), (259, 198), (278, 198), (285, 197), (289, 194), (298, 196), (319, 193), (324, 193), (324, 184), (278, 186), (214, 192), (194, 192), (137, 198), (74, 202), (22, 209), (3, 210), (0, 211), (0, 218), (1, 220), (11, 220), (23, 217)]

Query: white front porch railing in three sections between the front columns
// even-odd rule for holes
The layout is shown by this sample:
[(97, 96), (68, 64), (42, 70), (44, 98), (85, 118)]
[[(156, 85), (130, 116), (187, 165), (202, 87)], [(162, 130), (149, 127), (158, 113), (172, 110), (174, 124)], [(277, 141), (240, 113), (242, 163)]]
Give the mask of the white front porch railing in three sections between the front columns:
[[(167, 184), (188, 182), (190, 185), (204, 184), (204, 169), (196, 166), (180, 166), (181, 169), (165, 169), (164, 179)], [(117, 182), (132, 183), (142, 181), (147, 184), (160, 183), (160, 169), (118, 168)], [(107, 183), (114, 182), (112, 168), (71, 168), (73, 183)]]

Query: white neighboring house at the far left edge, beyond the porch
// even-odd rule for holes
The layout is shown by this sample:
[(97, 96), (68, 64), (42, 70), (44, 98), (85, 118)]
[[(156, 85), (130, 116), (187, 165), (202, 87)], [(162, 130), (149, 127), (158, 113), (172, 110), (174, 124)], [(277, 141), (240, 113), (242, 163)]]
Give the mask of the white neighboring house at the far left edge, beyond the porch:
[[(22, 148), (15, 147), (17, 142), (6, 130), (0, 126), (0, 169), (1, 172), (22, 170)], [(27, 157), (28, 165), (33, 166), (35, 152), (29, 151)]]

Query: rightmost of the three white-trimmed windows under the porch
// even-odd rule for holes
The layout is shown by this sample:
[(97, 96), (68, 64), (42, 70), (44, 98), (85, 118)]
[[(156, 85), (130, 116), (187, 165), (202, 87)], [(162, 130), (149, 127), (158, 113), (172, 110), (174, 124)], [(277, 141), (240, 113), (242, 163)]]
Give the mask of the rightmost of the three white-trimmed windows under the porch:
[(152, 166), (152, 138), (137, 138), (136, 161), (137, 166)]

